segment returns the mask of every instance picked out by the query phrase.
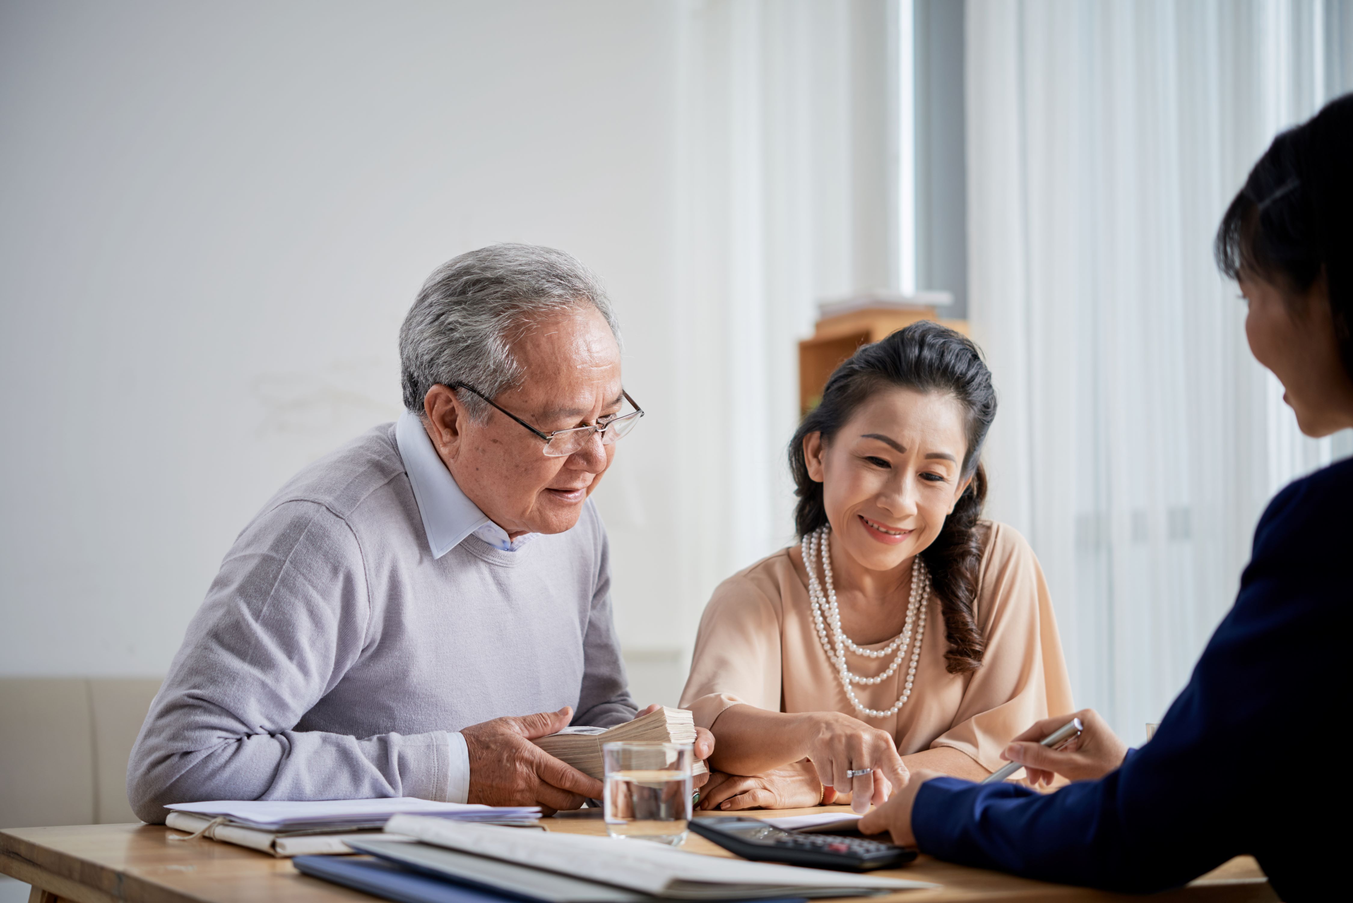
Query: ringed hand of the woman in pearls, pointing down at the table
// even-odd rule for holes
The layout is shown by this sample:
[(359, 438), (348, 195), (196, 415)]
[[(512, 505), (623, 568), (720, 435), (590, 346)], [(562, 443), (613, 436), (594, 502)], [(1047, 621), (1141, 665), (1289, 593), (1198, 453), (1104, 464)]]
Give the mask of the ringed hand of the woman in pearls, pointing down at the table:
[[(796, 724), (798, 746), (817, 768), (817, 778), (838, 793), (851, 795), (851, 808), (869, 811), (907, 784), (907, 766), (888, 731), (840, 712), (806, 712)], [(846, 772), (870, 769), (855, 778)]]

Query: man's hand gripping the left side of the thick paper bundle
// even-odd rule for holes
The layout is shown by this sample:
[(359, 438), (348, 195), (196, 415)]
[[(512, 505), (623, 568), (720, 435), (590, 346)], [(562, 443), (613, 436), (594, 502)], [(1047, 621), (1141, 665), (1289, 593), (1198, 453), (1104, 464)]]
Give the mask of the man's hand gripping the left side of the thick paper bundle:
[(586, 799), (601, 799), (601, 781), (540, 749), (530, 741), (568, 727), (574, 709), (521, 718), (495, 718), (460, 731), (469, 750), (471, 803), (540, 806), (575, 810)]

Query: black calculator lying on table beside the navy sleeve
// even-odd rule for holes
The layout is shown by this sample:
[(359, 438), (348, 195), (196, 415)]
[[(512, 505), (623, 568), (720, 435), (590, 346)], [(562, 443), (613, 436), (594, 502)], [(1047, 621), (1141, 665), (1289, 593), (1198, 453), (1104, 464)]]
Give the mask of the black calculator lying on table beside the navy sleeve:
[(736, 815), (693, 818), (687, 824), (690, 830), (729, 853), (759, 862), (869, 872), (897, 868), (916, 858), (916, 850), (871, 841), (867, 837), (783, 831), (766, 822)]

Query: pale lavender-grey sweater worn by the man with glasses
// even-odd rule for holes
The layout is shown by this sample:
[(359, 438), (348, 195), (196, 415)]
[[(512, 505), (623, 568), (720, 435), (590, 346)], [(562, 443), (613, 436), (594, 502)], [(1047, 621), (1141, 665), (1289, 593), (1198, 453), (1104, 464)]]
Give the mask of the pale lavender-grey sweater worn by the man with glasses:
[(146, 822), (193, 800), (444, 800), (448, 731), (635, 716), (593, 504), (517, 551), (471, 535), (434, 559), (394, 432), (306, 467), (239, 533), (131, 751)]

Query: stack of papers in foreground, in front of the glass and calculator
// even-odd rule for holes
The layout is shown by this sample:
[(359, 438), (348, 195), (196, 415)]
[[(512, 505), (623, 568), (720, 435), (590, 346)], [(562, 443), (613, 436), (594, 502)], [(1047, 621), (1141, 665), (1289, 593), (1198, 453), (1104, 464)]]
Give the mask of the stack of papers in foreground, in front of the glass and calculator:
[(513, 831), (418, 815), (396, 815), (386, 830), (421, 842), (371, 839), (353, 841), (352, 846), (417, 872), (444, 875), (457, 884), (518, 899), (729, 900), (859, 896), (936, 887), (877, 875), (700, 856), (643, 841)]

